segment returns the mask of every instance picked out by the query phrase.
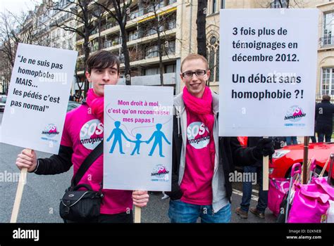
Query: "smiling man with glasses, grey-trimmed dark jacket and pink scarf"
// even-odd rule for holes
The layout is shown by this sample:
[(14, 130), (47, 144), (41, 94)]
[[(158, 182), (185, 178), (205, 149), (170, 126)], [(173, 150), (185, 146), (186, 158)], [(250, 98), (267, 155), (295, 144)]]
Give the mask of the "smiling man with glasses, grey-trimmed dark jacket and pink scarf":
[(255, 164), (274, 152), (270, 139), (242, 148), (236, 137), (218, 137), (218, 96), (206, 86), (210, 77), (203, 56), (181, 63), (183, 93), (174, 98), (173, 174), (168, 216), (172, 223), (230, 221), (235, 163)]

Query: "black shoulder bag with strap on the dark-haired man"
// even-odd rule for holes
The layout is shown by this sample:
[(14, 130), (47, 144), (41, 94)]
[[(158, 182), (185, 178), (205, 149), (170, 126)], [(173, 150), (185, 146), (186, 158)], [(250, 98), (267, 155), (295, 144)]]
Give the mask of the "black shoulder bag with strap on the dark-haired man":
[[(94, 191), (88, 184), (78, 185), (78, 183), (102, 153), (103, 141), (87, 156), (78, 169), (78, 172), (73, 176), (70, 187), (66, 189), (59, 205), (59, 214), (64, 220), (85, 222), (99, 216), (101, 200), (103, 198), (103, 194), (101, 193), (102, 187), (100, 187), (99, 191)], [(85, 190), (79, 190), (79, 188), (85, 188)]]

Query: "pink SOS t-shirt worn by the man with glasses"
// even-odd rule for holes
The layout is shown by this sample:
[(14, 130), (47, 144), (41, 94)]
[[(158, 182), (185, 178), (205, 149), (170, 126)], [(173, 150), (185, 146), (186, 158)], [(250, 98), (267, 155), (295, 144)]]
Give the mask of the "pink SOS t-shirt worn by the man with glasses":
[(209, 129), (197, 115), (187, 110), (187, 147), (185, 153), (185, 174), (180, 188), (183, 191), (181, 201), (194, 205), (211, 205), (211, 182), (214, 176), (214, 164), (211, 163)]

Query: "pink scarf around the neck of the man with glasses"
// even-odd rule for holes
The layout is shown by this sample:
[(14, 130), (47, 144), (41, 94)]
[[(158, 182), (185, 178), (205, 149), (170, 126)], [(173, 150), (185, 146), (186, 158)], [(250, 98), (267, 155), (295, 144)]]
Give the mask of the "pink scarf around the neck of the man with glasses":
[(214, 113), (212, 112), (212, 94), (208, 86), (205, 87), (202, 98), (192, 96), (187, 90), (187, 87), (183, 89), (183, 101), (185, 102), (185, 108), (192, 114), (197, 115), (199, 119), (208, 127), (210, 132), (210, 154), (211, 162), (214, 164), (215, 147), (214, 147)]

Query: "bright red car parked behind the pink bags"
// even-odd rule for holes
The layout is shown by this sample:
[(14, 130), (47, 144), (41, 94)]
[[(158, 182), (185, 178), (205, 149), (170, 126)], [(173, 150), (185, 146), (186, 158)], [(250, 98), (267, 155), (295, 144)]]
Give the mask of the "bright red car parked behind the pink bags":
[[(330, 153), (334, 153), (334, 143), (309, 143), (309, 159), (316, 160), (316, 172), (319, 174), (326, 164)], [(293, 164), (302, 163), (304, 159), (304, 144), (288, 145), (280, 148), (273, 154), (273, 160), (269, 162), (269, 177), (270, 178), (287, 178), (290, 176), (291, 167)], [(326, 173), (330, 162), (328, 162)], [(334, 172), (332, 173), (334, 178)]]

